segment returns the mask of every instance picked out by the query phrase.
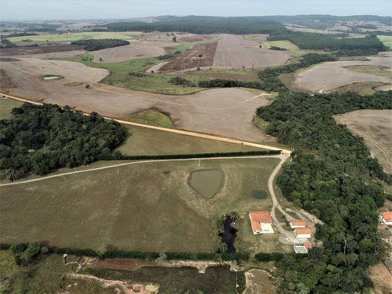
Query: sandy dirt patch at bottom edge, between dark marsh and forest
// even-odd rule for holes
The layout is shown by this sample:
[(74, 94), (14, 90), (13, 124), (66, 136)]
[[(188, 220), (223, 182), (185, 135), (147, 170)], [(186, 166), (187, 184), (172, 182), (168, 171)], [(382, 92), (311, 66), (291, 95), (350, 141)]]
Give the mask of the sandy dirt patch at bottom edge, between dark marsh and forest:
[(243, 294), (277, 293), (277, 289), (269, 276), (265, 270), (254, 269), (245, 272), (246, 289)]

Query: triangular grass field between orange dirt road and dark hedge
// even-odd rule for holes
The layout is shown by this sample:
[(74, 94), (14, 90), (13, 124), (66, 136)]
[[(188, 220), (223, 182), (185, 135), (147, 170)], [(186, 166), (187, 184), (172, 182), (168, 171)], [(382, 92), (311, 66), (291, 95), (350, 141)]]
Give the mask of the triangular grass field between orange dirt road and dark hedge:
[(126, 155), (194, 154), (260, 150), (260, 148), (250, 146), (219, 142), (143, 127), (131, 125), (125, 127), (128, 131), (128, 136), (116, 150)]

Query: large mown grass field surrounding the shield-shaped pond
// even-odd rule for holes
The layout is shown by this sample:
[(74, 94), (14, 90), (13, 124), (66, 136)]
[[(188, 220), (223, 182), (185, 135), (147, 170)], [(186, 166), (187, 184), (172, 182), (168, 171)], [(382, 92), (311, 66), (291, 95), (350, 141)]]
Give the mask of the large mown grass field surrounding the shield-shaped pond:
[[(153, 252), (214, 251), (212, 222), (236, 210), (266, 210), (276, 158), (150, 162), (1, 187), (2, 243)], [(221, 169), (225, 184), (212, 200), (187, 185), (195, 169)], [(17, 195), (17, 197), (15, 197)], [(246, 226), (246, 225), (245, 225)], [(267, 244), (268, 245), (268, 244)], [(275, 242), (263, 251), (280, 250)]]

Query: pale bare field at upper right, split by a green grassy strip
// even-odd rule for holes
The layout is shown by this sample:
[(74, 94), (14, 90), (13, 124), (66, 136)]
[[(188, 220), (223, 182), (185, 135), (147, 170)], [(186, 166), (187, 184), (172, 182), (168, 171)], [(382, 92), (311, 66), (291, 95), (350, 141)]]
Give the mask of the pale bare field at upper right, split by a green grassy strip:
[(295, 77), (295, 87), (313, 92), (328, 92), (334, 89), (360, 82), (382, 82), (391, 84), (391, 76), (379, 76), (352, 71), (345, 67), (374, 65), (391, 68), (391, 52), (382, 57), (367, 57), (369, 61), (335, 61), (316, 65)]

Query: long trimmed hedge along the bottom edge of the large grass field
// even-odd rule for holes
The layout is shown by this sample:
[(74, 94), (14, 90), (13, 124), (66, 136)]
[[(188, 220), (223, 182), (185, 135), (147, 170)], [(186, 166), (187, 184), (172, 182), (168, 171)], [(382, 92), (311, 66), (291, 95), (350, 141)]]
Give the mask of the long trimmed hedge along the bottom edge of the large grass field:
[[(100, 259), (113, 259), (113, 258), (133, 258), (133, 259), (156, 259), (159, 257), (157, 252), (138, 252), (138, 251), (107, 251), (103, 254), (99, 254), (93, 250), (86, 249), (70, 249), (70, 248), (52, 248), (49, 247), (49, 253), (53, 254), (64, 254), (76, 256), (89, 256), (99, 257)], [(219, 257), (222, 260), (249, 260), (249, 254), (247, 253), (166, 253), (168, 260), (212, 260), (216, 261)]]

